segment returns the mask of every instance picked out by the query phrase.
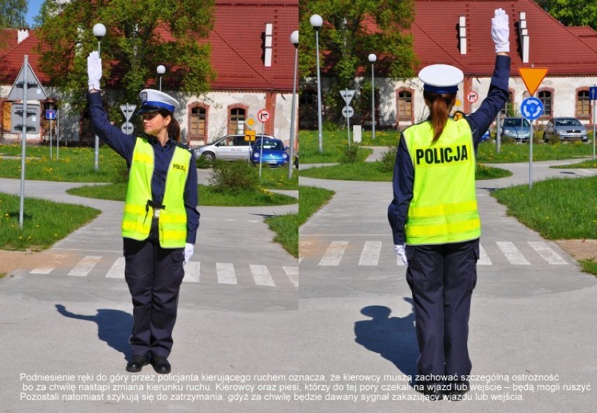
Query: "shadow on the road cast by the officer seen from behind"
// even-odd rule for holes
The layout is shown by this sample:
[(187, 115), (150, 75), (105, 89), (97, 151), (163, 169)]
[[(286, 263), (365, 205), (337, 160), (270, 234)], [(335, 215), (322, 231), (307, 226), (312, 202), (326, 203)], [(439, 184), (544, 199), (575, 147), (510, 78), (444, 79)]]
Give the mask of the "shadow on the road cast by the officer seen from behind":
[(392, 310), (381, 305), (361, 309), (361, 314), (372, 319), (355, 323), (355, 342), (390, 360), (404, 375), (415, 377), (419, 355), (415, 313), (413, 300), (405, 297), (404, 301), (411, 304), (411, 313), (402, 318), (390, 317)]

